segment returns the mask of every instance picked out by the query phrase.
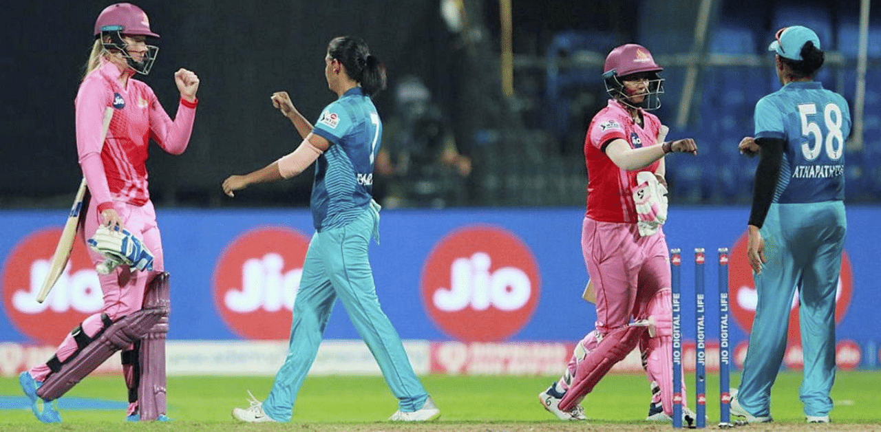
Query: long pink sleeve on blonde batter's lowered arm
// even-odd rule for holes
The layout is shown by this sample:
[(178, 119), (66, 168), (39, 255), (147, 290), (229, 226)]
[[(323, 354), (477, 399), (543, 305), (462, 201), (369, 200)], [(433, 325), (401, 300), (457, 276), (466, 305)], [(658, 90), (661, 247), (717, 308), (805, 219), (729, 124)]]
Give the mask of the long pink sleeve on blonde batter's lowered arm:
[(113, 206), (110, 187), (107, 186), (107, 174), (101, 161), (101, 150), (104, 147), (104, 141), (101, 140), (102, 123), (104, 111), (110, 103), (107, 92), (100, 83), (86, 80), (79, 87), (74, 107), (78, 162), (89, 193), (98, 203), (99, 211)]

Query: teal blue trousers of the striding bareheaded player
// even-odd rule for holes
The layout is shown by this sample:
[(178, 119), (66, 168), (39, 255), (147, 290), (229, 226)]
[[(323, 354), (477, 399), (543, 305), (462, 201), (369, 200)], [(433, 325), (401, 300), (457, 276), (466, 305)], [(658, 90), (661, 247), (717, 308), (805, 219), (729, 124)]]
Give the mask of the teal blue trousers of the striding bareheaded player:
[[(368, 208), (343, 227), (316, 232), (309, 242), (300, 290), (293, 304), (291, 339), (285, 363), (278, 370), (263, 411), (276, 421), (290, 421), (292, 409), (315, 362), (330, 311), (339, 298), (352, 324), (379, 363), (401, 411), (422, 407), (428, 398), (403, 350), (401, 337), (376, 297), (373, 270), (367, 256), (377, 233), (379, 213)], [(356, 401), (340, 400), (329, 410), (357, 409)]]

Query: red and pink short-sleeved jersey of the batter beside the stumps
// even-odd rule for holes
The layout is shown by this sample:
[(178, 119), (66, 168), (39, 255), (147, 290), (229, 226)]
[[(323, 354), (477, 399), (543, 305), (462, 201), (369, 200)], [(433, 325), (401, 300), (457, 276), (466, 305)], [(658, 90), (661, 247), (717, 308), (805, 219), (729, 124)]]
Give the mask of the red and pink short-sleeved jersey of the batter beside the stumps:
[(609, 99), (609, 104), (590, 121), (584, 140), (584, 159), (588, 168), (588, 209), (585, 216), (601, 222), (637, 223), (632, 190), (636, 174), (657, 171), (660, 161), (637, 171), (618, 168), (605, 154), (605, 146), (615, 139), (623, 139), (633, 149), (657, 145), (661, 121), (657, 116), (640, 109), (643, 127), (631, 119), (624, 106)]

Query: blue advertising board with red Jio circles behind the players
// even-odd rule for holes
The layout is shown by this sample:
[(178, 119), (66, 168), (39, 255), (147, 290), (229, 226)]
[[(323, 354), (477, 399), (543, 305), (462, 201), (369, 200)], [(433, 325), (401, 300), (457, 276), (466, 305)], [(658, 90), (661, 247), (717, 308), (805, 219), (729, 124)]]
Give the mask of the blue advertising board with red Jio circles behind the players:
[[(878, 364), (879, 338), (872, 326), (865, 325), (876, 315), (877, 278), (872, 271), (881, 246), (869, 233), (878, 210), (848, 208), (836, 310), (838, 358), (844, 368)], [(685, 340), (693, 340), (694, 334), (692, 251), (707, 250), (711, 352), (718, 336), (713, 257), (719, 247), (730, 249), (729, 339), (737, 365), (743, 359), (756, 305), (745, 260), (748, 211), (673, 208), (664, 227), (668, 245), (683, 251)], [(313, 232), (307, 209), (159, 209), (158, 213), (172, 284), (169, 340), (195, 347), (211, 341), (257, 344), (287, 339)], [(371, 246), (376, 289), (402, 339), (422, 342), (425, 370), (468, 372), (469, 367), (481, 370), (474, 359), (504, 358), (508, 372), (520, 367), (526, 372), (559, 373), (574, 342), (589, 332), (596, 319), (593, 305), (581, 300), (588, 281), (581, 258), (582, 216), (582, 209), (383, 211), (380, 244)], [(34, 300), (48, 272), (61, 223), (59, 210), (0, 213), (0, 363), (3, 353), (9, 352), (4, 348), (41, 347), (39, 355), (51, 353), (65, 333), (100, 310), (98, 278), (81, 243), (47, 301)], [(794, 298), (786, 357), (787, 366), (794, 369), (801, 366), (797, 305)], [(339, 304), (325, 338), (359, 339)], [(690, 346), (685, 344), (686, 355)], [(283, 354), (282, 348), (279, 355)], [(512, 359), (518, 358), (552, 366), (546, 370), (530, 369), (523, 362), (517, 366)], [(489, 362), (482, 364), (484, 371), (496, 370)], [(639, 369), (638, 359), (633, 369)]]

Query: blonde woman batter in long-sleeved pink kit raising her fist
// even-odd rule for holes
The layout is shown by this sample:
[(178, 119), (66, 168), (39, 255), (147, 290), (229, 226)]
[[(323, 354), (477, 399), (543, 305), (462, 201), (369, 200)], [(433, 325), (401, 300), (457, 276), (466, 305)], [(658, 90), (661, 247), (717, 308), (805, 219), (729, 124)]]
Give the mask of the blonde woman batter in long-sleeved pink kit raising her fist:
[[(75, 101), (79, 165), (91, 194), (80, 232), (85, 238), (91, 238), (101, 224), (110, 228), (125, 228), (141, 238), (152, 251), (154, 271), (137, 271), (134, 267), (122, 266), (116, 267), (108, 275), (99, 275), (104, 296), (101, 310), (86, 318), (65, 337), (56, 355), (48, 362), (22, 372), (19, 377), (22, 390), (31, 399), (33, 414), (44, 422), (61, 421), (56, 406), (46, 402), (66, 392), (47, 394), (47, 388), (58, 380), (73, 380), (76, 383), (85, 377), (100, 365), (93, 356), (96, 352), (100, 356), (102, 350), (112, 353), (116, 349), (126, 349), (118, 346), (97, 347), (107, 343), (107, 340), (116, 338), (124, 343), (126, 337), (143, 337), (124, 335), (141, 332), (133, 331), (127, 323), (131, 317), (140, 315), (137, 312), (144, 306), (148, 282), (152, 282), (154, 276), (164, 269), (159, 228), (147, 188), (144, 165), (147, 150), (151, 139), (162, 150), (174, 155), (186, 150), (198, 103), (196, 91), (199, 78), (189, 70), (181, 69), (174, 73), (174, 82), (181, 93), (174, 121), (159, 104), (152, 89), (133, 78), (136, 73), (146, 75), (150, 72), (159, 49), (146, 44), (146, 38), (159, 38), (159, 34), (151, 31), (147, 15), (134, 4), (107, 6), (95, 22), (94, 37), (92, 53), (85, 65), (85, 77), (79, 85)], [(102, 141), (102, 121), (107, 107), (113, 108), (113, 117), (107, 138)], [(105, 260), (104, 256), (92, 250), (89, 250), (89, 255), (95, 265)], [(167, 302), (167, 290), (165, 292)], [(167, 331), (167, 324), (164, 328)], [(167, 420), (164, 412), (164, 345), (162, 388), (159, 389), (163, 412), (142, 417), (139, 411), (137, 387), (139, 380), (144, 379), (140, 371), (144, 368), (139, 364), (137, 355), (138, 349), (141, 349), (140, 342), (134, 340), (122, 353), (123, 372), (130, 395), (127, 420)], [(76, 367), (71, 366), (74, 363)]]

